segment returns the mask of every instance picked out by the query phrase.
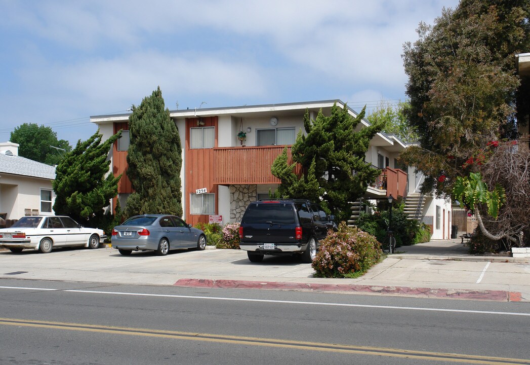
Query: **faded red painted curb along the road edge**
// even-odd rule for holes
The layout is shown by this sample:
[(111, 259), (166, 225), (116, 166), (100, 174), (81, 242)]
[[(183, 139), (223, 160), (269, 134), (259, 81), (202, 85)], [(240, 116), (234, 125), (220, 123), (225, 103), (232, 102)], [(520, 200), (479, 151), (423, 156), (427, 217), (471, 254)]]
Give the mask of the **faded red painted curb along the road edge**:
[(467, 290), (467, 289), (431, 289), (408, 288), (407, 286), (376, 286), (355, 284), (315, 284), (315, 283), (282, 283), (240, 280), (180, 279), (174, 286), (192, 288), (224, 289), (269, 289), (269, 290), (307, 290), (307, 291), (342, 291), (357, 293), (393, 294), (426, 298), (451, 298), (467, 300), (520, 301), (521, 293), (502, 290)]

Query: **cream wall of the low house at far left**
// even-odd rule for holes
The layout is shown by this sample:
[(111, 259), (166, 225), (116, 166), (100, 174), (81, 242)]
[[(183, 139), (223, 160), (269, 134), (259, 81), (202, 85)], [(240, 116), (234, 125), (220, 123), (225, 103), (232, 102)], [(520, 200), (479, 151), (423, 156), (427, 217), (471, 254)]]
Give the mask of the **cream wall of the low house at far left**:
[[(52, 190), (51, 180), (36, 179), (2, 174), (0, 178), (0, 198), (2, 211), (7, 213), (7, 219), (20, 219), (24, 216), (24, 209), (37, 209), (39, 214), (55, 214), (40, 212), (40, 189)], [(55, 202), (52, 190), (51, 204)]]

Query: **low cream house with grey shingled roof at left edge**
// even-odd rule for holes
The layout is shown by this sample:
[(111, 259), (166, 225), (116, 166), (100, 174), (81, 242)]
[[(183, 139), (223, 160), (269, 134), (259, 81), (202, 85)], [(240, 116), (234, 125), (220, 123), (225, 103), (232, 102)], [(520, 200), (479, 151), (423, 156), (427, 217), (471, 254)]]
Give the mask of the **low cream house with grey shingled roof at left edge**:
[(0, 143), (0, 212), (5, 219), (55, 214), (54, 179), (54, 166), (19, 156), (17, 143)]

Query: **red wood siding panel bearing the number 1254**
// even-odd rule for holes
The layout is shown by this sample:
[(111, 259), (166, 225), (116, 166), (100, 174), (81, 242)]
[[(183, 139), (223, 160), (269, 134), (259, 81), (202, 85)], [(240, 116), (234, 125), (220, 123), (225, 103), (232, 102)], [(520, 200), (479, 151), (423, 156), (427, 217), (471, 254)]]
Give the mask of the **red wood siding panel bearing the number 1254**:
[[(214, 147), (217, 147), (218, 118), (206, 117), (201, 119), (204, 127), (215, 127)], [(198, 118), (186, 118), (186, 137), (184, 146), (185, 156), (185, 191), (182, 201), (185, 202), (184, 218), (187, 223), (207, 223), (208, 214), (190, 214), (190, 194), (197, 189), (206, 188), (208, 193), (215, 194), (215, 214), (219, 211), (219, 194), (217, 184), (214, 183), (214, 149), (190, 149), (190, 128), (197, 127)]]

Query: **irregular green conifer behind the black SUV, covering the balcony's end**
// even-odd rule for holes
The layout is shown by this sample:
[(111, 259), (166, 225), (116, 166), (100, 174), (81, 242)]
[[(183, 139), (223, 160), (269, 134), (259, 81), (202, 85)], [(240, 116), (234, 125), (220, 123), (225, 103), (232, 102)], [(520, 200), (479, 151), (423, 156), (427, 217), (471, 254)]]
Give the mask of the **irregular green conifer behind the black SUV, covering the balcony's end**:
[[(341, 109), (336, 103), (330, 116), (321, 110), (311, 120), (306, 111), (307, 135), (300, 131), (291, 149), (295, 163), (288, 164), (285, 149), (272, 164), (272, 174), (281, 180), (279, 196), (321, 202), (339, 221), (346, 221), (351, 215), (349, 202), (362, 196), (381, 172), (365, 162), (365, 153), (383, 122), (356, 132), (364, 115), (365, 108), (354, 118), (347, 106)], [(302, 166), (300, 177), (293, 172), (296, 163)]]

